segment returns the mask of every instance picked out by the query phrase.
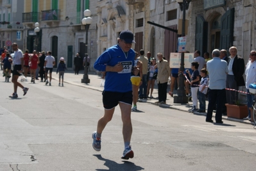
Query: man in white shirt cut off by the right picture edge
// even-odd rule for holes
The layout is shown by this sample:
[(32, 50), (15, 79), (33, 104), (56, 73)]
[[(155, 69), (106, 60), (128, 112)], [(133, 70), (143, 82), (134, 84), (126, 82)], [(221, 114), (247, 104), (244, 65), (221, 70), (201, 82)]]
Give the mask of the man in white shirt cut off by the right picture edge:
[[(248, 61), (246, 65), (246, 69), (244, 74), (246, 75), (246, 81), (245, 86), (247, 92), (249, 92), (249, 86), (250, 84), (253, 84), (256, 82), (256, 51), (251, 51), (250, 53), (250, 60)], [(247, 108), (248, 108), (248, 117), (244, 119), (251, 120), (252, 113), (252, 102), (254, 101), (254, 94), (246, 94), (247, 97)]]

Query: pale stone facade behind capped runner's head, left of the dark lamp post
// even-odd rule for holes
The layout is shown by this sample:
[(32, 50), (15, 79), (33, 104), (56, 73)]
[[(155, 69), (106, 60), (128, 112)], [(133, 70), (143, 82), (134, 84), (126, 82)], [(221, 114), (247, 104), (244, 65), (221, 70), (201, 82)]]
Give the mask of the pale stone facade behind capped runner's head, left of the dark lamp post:
[(167, 59), (169, 53), (176, 51), (176, 33), (147, 23), (152, 21), (177, 29), (180, 6), (175, 0), (101, 0), (97, 3), (97, 14), (98, 56), (117, 43), (123, 29), (130, 29), (134, 33), (135, 51), (150, 51), (155, 58), (157, 53), (163, 53)]

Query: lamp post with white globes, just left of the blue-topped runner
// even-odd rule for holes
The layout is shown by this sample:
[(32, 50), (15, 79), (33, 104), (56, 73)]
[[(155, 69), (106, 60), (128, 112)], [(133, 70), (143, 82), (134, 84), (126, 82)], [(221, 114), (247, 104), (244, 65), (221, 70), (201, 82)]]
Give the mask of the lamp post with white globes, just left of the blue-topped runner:
[(87, 67), (87, 63), (88, 63), (88, 30), (89, 30), (89, 26), (92, 23), (92, 18), (90, 18), (90, 10), (85, 10), (83, 12), (83, 15), (85, 15), (85, 18), (83, 18), (81, 20), (81, 23), (83, 25), (85, 25), (85, 31), (86, 31), (86, 37), (85, 37), (85, 70), (84, 70), (84, 74), (83, 74), (83, 78), (81, 79), (81, 83), (85, 83), (88, 84), (90, 83), (90, 79), (88, 77), (88, 67)]

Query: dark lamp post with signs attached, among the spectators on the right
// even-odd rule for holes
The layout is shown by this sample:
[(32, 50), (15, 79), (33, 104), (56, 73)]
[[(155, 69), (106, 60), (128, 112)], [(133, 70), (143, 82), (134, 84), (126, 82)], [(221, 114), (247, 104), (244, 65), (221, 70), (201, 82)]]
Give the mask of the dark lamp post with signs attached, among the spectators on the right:
[[(186, 10), (189, 9), (189, 3), (191, 0), (177, 0), (177, 3), (180, 4), (180, 10), (183, 12), (183, 19), (182, 19), (182, 37), (185, 37), (185, 15)], [(183, 76), (184, 72), (184, 52), (182, 52), (182, 58), (180, 61), (180, 74), (179, 74), (179, 81), (180, 84), (178, 86), (177, 95), (174, 95), (174, 103), (187, 103), (189, 99), (185, 93), (184, 88), (184, 81), (185, 77)]]

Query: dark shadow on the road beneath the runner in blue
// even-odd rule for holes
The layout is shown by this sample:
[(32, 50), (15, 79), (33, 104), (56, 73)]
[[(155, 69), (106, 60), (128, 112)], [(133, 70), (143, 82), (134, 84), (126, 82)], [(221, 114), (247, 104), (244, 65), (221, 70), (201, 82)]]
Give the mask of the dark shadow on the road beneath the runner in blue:
[(109, 169), (96, 169), (99, 171), (103, 171), (103, 170), (110, 170), (110, 171), (114, 171), (114, 170), (118, 170), (118, 171), (121, 171), (121, 170), (134, 170), (134, 171), (144, 170), (144, 168), (139, 167), (130, 161), (123, 161), (124, 162), (123, 164), (119, 164), (110, 159), (103, 158), (101, 156), (101, 154), (94, 154), (93, 156), (96, 156), (99, 160), (105, 161), (104, 165), (109, 168)]

